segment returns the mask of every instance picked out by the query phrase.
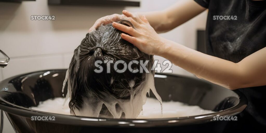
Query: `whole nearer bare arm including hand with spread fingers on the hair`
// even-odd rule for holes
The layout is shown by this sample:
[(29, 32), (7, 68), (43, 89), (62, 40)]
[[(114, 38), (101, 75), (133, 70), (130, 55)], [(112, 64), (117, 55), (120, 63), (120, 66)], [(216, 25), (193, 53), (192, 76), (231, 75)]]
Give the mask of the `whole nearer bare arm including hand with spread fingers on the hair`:
[(146, 17), (123, 12), (135, 28), (119, 23), (113, 26), (122, 33), (121, 37), (141, 51), (162, 56), (177, 66), (228, 89), (266, 85), (266, 47), (247, 56), (239, 63), (206, 55), (159, 36)]

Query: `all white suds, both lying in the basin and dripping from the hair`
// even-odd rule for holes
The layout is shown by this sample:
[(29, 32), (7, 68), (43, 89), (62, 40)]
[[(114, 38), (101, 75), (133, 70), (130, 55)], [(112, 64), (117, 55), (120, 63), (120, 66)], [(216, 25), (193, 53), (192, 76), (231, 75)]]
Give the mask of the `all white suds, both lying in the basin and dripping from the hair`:
[[(66, 77), (63, 82), (62, 92), (64, 92), (66, 81), (69, 78), (68, 76), (69, 74), (67, 70)], [(89, 96), (89, 99), (84, 99), (84, 106), (82, 109), (74, 110), (75, 115), (85, 117), (99, 117), (99, 113), (102, 109), (103, 104), (105, 104), (114, 118), (121, 118), (123, 112), (125, 114), (125, 118), (139, 119), (152, 119), (162, 117), (173, 118), (213, 113), (213, 111), (203, 110), (199, 106), (189, 106), (181, 102), (162, 102), (161, 97), (156, 92), (153, 75), (149, 73), (146, 75), (146, 78), (147, 82), (143, 82), (138, 86), (138, 88), (135, 89), (135, 91), (133, 90), (133, 87), (135, 85), (134, 80), (128, 83), (131, 88), (130, 90), (128, 90), (130, 92), (130, 100), (116, 99), (108, 95), (109, 99), (102, 101), (97, 97), (91, 95)], [(112, 78), (111, 80), (114, 79)], [(157, 99), (146, 97), (146, 94), (149, 94), (150, 90), (152, 90)], [(140, 92), (136, 93), (136, 91)], [(40, 102), (38, 107), (30, 108), (56, 114), (73, 115), (73, 113), (70, 112), (68, 104), (65, 104), (69, 103), (70, 99), (71, 87), (70, 82), (68, 82), (68, 93), (66, 94), (66, 98), (48, 99), (44, 102)], [(119, 109), (115, 107), (116, 104), (120, 106)]]

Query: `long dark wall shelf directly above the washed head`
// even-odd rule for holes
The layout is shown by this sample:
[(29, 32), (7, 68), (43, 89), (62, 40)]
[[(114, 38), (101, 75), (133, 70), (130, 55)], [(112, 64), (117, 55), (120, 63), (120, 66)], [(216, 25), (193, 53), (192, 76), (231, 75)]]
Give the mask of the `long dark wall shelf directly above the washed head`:
[(140, 6), (140, 2), (123, 0), (48, 0), (49, 5)]

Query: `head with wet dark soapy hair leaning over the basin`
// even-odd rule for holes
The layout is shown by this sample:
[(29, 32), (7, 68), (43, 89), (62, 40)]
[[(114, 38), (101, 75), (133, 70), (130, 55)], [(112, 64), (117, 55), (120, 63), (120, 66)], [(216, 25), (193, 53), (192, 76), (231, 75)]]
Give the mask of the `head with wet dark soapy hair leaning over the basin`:
[[(121, 33), (112, 24), (100, 26), (96, 31), (86, 34), (81, 44), (75, 49), (68, 69), (68, 82), (71, 87), (70, 93), (72, 93), (69, 107), (72, 114), (97, 115), (102, 105), (113, 114), (111, 106), (117, 106), (116, 109), (121, 108), (118, 107), (121, 105), (117, 103), (130, 101), (130, 98), (142, 92), (148, 74), (145, 71), (132, 73), (128, 69), (123, 73), (118, 73), (114, 69), (114, 63), (118, 60), (123, 60), (126, 64), (132, 60), (149, 60), (147, 69), (154, 74), (151, 71), (153, 56), (139, 51), (134, 45), (123, 40), (120, 37)], [(107, 73), (107, 64), (104, 60), (113, 61), (110, 65), (110, 73)], [(102, 72), (94, 71), (99, 69), (95, 66), (95, 61), (103, 62)], [(118, 64), (118, 69), (123, 67), (124, 65)], [(132, 69), (136, 68), (139, 69), (140, 64), (132, 64)], [(124, 112), (124, 109), (120, 110)], [(101, 114), (106, 117), (110, 115), (106, 113), (106, 109), (102, 109)]]

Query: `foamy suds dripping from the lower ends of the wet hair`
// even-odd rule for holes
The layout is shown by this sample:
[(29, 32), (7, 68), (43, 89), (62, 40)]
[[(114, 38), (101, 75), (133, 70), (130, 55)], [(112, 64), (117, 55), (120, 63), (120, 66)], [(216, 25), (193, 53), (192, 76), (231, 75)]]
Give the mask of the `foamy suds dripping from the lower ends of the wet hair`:
[[(64, 80), (62, 92), (64, 92), (67, 78), (68, 78), (68, 70), (66, 72), (66, 78)], [(142, 111), (143, 105), (146, 103), (147, 99), (146, 94), (149, 93), (151, 89), (153, 94), (160, 101), (161, 114), (163, 114), (162, 100), (159, 94), (156, 92), (154, 86), (154, 77), (152, 73), (147, 73), (146, 82), (143, 82), (135, 90), (133, 90), (133, 87), (135, 85), (134, 80), (130, 81), (128, 85), (131, 88), (130, 90), (128, 90), (130, 92), (130, 100), (117, 99), (112, 95), (106, 94), (106, 99), (103, 101), (98, 97), (93, 96), (92, 94), (88, 94), (88, 98), (83, 99), (84, 102), (82, 109), (78, 110), (74, 108), (73, 110), (74, 112), (70, 111), (70, 113), (72, 115), (79, 115), (79, 116), (99, 117), (102, 105), (104, 104), (114, 118), (121, 118), (123, 113), (125, 115), (125, 118), (136, 118)], [(71, 88), (69, 82), (68, 82), (68, 93), (66, 94), (66, 99), (63, 103), (63, 106), (65, 105), (68, 98), (71, 100)]]

